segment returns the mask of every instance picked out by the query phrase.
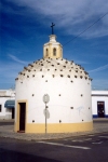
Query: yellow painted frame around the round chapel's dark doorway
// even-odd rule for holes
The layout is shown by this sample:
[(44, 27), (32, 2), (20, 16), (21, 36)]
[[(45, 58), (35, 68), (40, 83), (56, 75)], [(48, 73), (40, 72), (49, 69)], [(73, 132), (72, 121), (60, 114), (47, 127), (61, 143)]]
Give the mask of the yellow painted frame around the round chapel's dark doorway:
[(23, 99), (23, 100), (17, 100), (17, 107), (16, 107), (16, 122), (14, 124), (14, 131), (17, 132), (19, 131), (19, 103), (26, 103), (26, 118), (25, 118), (25, 133), (27, 130), (27, 112), (28, 112), (28, 100)]

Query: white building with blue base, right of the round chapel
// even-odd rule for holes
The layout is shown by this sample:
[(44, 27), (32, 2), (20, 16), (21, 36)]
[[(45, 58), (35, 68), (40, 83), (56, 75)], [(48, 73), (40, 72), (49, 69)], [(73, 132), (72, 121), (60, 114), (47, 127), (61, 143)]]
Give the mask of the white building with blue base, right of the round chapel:
[(108, 118), (108, 91), (92, 91), (93, 118)]

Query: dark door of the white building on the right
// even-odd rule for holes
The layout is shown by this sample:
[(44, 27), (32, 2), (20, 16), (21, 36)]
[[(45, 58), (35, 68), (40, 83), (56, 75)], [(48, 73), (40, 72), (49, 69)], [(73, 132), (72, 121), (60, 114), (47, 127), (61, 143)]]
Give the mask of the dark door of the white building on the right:
[(105, 118), (105, 103), (104, 102), (97, 102), (97, 112), (98, 112), (98, 118)]

